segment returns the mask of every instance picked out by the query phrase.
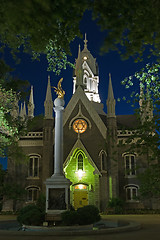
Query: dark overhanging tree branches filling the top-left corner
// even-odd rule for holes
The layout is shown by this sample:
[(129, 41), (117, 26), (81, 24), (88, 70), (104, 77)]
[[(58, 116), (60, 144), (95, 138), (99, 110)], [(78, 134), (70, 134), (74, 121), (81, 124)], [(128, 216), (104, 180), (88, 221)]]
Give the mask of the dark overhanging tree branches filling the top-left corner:
[(88, 0), (0, 1), (0, 41), (13, 52), (22, 49), (33, 58), (46, 54), (50, 70), (66, 68), (70, 42), (80, 36), (79, 22)]

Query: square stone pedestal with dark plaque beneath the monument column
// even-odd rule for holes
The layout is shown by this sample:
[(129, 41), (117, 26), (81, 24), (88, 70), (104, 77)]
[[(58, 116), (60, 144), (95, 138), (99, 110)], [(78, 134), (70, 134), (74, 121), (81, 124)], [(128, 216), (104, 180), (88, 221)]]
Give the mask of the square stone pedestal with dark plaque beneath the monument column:
[(64, 175), (53, 174), (46, 179), (46, 213), (60, 215), (67, 210), (70, 201), (70, 181)]

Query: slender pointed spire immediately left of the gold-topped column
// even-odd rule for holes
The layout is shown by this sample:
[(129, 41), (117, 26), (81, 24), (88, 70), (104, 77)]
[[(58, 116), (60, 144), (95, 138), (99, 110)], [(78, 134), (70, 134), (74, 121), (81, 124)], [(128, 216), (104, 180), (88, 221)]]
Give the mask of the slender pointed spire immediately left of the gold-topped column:
[(44, 102), (44, 108), (45, 108), (45, 118), (53, 119), (53, 101), (52, 101), (52, 94), (51, 94), (50, 76), (48, 76), (48, 85), (47, 85), (46, 99)]

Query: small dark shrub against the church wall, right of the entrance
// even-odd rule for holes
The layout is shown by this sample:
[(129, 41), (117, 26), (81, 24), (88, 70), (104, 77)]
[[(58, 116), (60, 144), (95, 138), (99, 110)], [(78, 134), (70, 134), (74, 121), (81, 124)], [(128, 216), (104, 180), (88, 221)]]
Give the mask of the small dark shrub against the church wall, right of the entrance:
[(111, 208), (114, 214), (121, 214), (124, 211), (124, 201), (120, 198), (111, 198), (107, 208)]

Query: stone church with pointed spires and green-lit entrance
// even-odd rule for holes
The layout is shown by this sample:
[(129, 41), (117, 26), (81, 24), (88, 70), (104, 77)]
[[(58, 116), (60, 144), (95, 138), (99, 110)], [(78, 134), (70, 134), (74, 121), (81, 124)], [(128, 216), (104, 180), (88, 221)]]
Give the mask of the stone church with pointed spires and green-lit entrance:
[[(70, 204), (75, 208), (95, 205), (105, 211), (111, 198), (121, 198), (127, 208), (142, 208), (138, 200), (138, 171), (145, 159), (120, 142), (133, 134), (134, 115), (116, 115), (114, 89), (109, 75), (107, 113), (103, 110), (98, 91), (99, 72), (96, 59), (84, 47), (78, 50), (73, 75), (73, 95), (63, 112), (63, 171), (70, 180)], [(31, 88), (28, 115), (21, 108), (21, 117), (34, 119), (34, 94)], [(19, 146), (29, 156), (25, 164), (8, 160), (8, 173), (26, 189), (23, 204), (33, 203), (46, 192), (45, 181), (54, 171), (54, 117), (50, 77), (44, 101), (44, 119), (19, 140)], [(138, 168), (137, 168), (138, 166)], [(6, 202), (3, 210), (13, 209)], [(17, 205), (14, 208), (18, 208)]]

